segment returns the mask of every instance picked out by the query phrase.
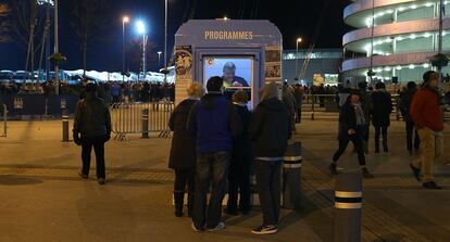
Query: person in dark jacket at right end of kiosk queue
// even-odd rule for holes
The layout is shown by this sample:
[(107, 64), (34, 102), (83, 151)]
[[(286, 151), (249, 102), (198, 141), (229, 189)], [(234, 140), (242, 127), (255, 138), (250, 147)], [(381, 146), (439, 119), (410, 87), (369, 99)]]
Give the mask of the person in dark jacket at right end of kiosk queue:
[(254, 111), (249, 129), (263, 214), (262, 226), (252, 230), (255, 234), (278, 231), (283, 156), (291, 136), (289, 112), (278, 95), (279, 89), (275, 82), (267, 84), (260, 90), (261, 103)]

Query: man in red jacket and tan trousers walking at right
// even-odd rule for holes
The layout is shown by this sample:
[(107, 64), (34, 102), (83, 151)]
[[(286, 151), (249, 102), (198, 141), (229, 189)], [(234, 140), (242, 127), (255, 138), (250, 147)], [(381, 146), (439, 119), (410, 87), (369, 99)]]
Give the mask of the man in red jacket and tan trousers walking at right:
[(443, 114), (438, 86), (439, 74), (426, 72), (424, 84), (414, 94), (411, 104), (411, 118), (421, 139), (422, 157), (411, 163), (410, 167), (426, 189), (441, 189), (433, 177), (433, 163), (443, 152)]

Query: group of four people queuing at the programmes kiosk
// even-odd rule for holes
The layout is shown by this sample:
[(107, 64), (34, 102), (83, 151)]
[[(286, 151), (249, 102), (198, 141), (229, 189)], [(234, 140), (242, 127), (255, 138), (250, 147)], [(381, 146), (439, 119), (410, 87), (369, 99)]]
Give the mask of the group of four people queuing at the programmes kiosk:
[(225, 229), (222, 220), (225, 192), (228, 191), (226, 214), (248, 214), (254, 170), (263, 222), (252, 232), (276, 233), (283, 155), (291, 135), (288, 109), (278, 98), (276, 84), (260, 90), (261, 102), (253, 113), (247, 107), (246, 92), (237, 91), (229, 102), (223, 94), (223, 85), (222, 77), (210, 78), (203, 95), (202, 86), (192, 84), (187, 90), (189, 98), (172, 114), (170, 127), (174, 139), (170, 167), (175, 169), (176, 177), (175, 215), (184, 214), (187, 184), (192, 229), (197, 232)]

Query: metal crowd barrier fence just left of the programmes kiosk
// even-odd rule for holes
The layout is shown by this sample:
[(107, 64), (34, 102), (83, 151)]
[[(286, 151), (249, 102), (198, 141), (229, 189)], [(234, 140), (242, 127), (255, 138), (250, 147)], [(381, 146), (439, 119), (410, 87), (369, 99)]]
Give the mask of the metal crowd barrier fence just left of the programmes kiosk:
[(127, 135), (150, 132), (170, 137), (168, 119), (174, 110), (173, 102), (116, 103), (111, 106), (112, 131), (115, 139), (125, 140)]

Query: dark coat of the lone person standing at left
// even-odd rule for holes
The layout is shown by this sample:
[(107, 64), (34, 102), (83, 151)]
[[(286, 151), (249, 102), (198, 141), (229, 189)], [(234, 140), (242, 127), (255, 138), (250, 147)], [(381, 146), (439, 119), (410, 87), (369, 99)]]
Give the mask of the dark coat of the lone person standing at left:
[(110, 110), (103, 100), (92, 93), (78, 102), (75, 110), (74, 129), (82, 138), (101, 137), (111, 133)]

